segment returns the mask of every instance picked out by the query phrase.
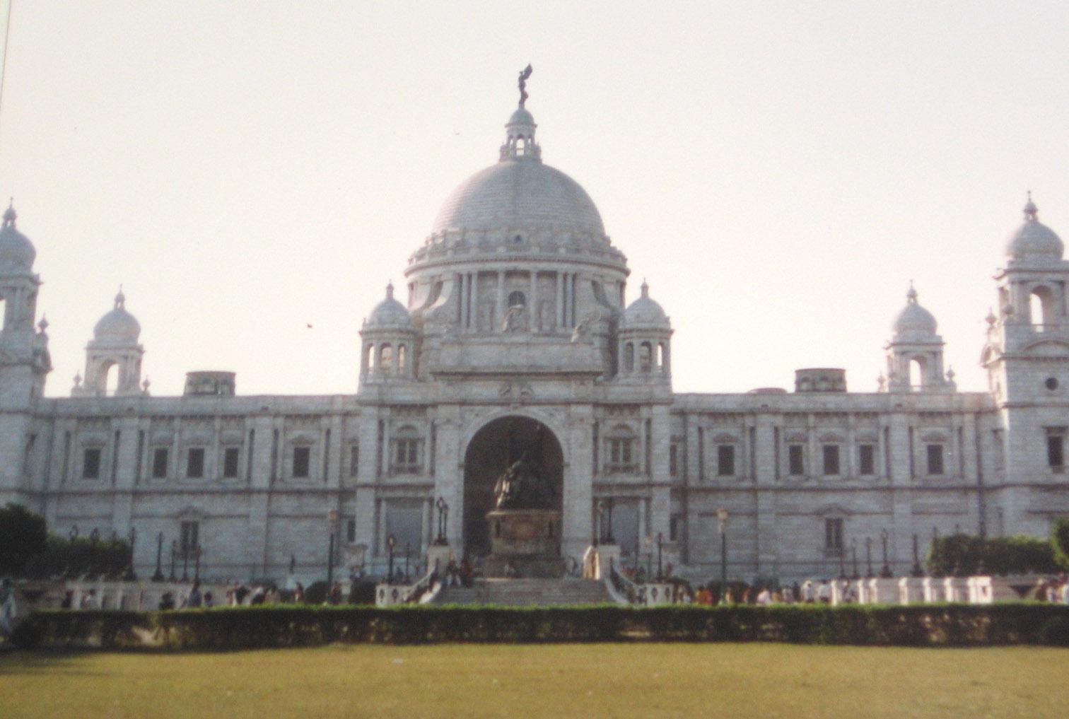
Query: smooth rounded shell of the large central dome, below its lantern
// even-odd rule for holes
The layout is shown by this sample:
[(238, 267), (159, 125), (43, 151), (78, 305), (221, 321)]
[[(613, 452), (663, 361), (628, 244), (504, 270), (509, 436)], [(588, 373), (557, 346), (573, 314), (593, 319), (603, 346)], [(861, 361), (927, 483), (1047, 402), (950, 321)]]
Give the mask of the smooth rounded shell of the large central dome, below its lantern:
[(432, 234), (448, 230), (562, 230), (605, 235), (590, 196), (560, 170), (531, 158), (503, 159), (452, 191)]

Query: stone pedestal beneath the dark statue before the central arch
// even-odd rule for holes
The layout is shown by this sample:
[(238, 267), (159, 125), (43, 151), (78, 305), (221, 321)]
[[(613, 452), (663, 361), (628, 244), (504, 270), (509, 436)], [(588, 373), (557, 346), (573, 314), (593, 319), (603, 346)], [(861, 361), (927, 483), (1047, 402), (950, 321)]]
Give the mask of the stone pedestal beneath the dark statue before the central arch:
[(483, 564), (487, 577), (507, 577), (510, 565), (521, 577), (560, 577), (560, 512), (554, 510), (493, 510), (490, 557)]

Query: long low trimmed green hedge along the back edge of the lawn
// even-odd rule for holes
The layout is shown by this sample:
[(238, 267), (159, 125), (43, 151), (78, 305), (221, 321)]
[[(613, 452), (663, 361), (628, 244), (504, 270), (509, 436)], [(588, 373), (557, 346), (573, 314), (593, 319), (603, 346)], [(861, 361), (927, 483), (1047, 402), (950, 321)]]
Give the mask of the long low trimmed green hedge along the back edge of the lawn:
[(791, 642), (885, 646), (1069, 645), (1069, 607), (264, 607), (31, 615), (25, 647), (237, 650), (331, 642)]

